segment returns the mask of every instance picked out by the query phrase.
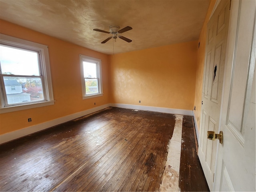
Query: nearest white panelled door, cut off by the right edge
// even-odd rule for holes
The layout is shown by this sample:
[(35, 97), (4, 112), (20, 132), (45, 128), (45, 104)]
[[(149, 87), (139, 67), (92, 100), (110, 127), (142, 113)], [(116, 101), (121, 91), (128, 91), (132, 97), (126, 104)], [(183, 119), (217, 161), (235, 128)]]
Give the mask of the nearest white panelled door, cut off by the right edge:
[(215, 191), (256, 190), (255, 7), (255, 0), (232, 0)]

